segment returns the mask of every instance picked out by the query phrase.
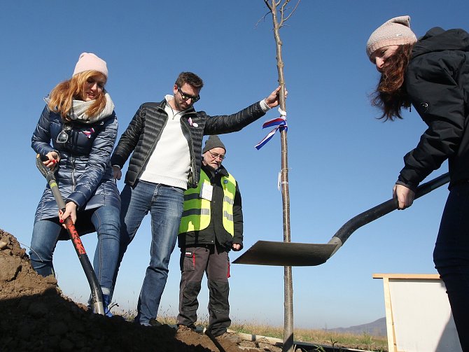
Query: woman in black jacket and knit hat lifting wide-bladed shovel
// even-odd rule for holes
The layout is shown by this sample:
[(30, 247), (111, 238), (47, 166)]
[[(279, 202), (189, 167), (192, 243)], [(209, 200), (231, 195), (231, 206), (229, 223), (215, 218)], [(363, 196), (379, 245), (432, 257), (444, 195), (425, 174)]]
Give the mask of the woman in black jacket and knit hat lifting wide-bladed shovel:
[(417, 40), (409, 22), (409, 16), (394, 17), (367, 41), (367, 55), (381, 73), (372, 105), (391, 121), (412, 105), (428, 126), (394, 185), (399, 209), (411, 206), (419, 183), (449, 160), (449, 197), (433, 260), (469, 351), (469, 34), (435, 27)]

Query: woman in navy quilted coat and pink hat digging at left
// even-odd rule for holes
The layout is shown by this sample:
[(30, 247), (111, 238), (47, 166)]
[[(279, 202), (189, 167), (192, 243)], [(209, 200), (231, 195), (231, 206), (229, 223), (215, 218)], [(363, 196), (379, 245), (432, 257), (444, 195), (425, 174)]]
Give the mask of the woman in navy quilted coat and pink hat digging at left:
[(114, 104), (104, 90), (106, 62), (83, 52), (73, 76), (59, 83), (45, 98), (45, 108), (31, 146), (45, 155), (45, 167), (55, 178), (66, 206), (62, 213), (49, 187), (36, 210), (31, 239), (31, 266), (42, 276), (55, 275), (52, 254), (59, 239), (67, 239), (62, 223), (68, 217), (78, 233), (97, 232), (93, 267), (102, 288), (104, 313), (119, 254), (120, 196), (109, 158), (118, 122)]

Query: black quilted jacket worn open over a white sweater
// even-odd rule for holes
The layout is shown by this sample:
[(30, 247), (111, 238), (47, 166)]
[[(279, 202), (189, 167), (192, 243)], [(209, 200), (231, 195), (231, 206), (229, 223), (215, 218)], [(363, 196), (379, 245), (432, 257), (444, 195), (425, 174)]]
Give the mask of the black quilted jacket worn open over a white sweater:
[[(155, 146), (165, 128), (168, 115), (166, 100), (160, 103), (144, 103), (139, 107), (111, 156), (111, 164), (121, 169), (132, 151), (125, 183), (134, 186), (144, 171)], [(260, 103), (255, 103), (232, 115), (209, 116), (204, 111), (190, 108), (181, 116), (181, 127), (190, 150), (188, 187), (197, 187), (202, 164), (202, 137), (207, 134), (236, 132), (265, 115)], [(192, 119), (192, 124), (189, 123)]]

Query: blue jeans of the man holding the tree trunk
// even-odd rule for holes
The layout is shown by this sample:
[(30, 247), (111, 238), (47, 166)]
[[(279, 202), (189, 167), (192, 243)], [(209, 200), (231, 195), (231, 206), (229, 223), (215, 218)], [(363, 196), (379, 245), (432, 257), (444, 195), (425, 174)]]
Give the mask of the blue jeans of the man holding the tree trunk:
[[(169, 272), (169, 258), (176, 245), (176, 239), (183, 213), (184, 190), (168, 185), (138, 181), (132, 188), (125, 185), (120, 193), (120, 255), (123, 259), (127, 246), (134, 239), (137, 230), (148, 211), (151, 213), (150, 264), (146, 268), (141, 287), (135, 322), (150, 325), (160, 307)], [(117, 275), (117, 272), (116, 272)]]

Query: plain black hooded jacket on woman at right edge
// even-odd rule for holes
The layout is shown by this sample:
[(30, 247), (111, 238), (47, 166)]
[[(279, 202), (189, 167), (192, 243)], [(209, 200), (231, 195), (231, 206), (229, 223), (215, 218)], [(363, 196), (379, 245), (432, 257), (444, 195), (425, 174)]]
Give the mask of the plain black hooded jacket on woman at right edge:
[(449, 187), (468, 181), (469, 34), (430, 29), (414, 45), (405, 88), (428, 129), (405, 155), (398, 183), (415, 190), (447, 159)]

